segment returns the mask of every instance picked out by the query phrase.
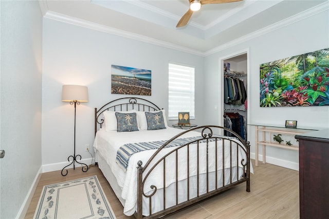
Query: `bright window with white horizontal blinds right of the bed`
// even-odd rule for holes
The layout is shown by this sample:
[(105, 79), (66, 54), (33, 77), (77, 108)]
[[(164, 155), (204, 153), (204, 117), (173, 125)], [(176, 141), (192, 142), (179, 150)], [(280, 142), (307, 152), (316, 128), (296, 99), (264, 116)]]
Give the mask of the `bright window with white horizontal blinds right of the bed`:
[(178, 119), (178, 112), (194, 119), (194, 67), (169, 63), (168, 99), (168, 119)]

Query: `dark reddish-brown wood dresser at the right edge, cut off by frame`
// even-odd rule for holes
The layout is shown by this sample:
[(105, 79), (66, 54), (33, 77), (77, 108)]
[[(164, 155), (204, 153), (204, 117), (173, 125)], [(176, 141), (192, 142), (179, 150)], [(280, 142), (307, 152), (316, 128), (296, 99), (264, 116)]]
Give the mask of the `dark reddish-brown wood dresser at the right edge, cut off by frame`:
[(329, 129), (299, 140), (300, 218), (329, 218)]

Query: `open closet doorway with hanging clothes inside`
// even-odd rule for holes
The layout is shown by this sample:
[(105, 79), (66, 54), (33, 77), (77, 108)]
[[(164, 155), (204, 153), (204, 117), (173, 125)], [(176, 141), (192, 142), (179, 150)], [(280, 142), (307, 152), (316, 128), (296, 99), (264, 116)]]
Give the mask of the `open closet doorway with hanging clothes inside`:
[(221, 58), (220, 66), (220, 123), (248, 140), (249, 50)]

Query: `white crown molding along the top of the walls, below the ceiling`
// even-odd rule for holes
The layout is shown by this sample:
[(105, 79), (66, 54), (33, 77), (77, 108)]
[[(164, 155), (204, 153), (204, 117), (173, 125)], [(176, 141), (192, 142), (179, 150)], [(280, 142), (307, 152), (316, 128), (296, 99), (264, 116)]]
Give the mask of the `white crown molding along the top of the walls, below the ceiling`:
[[(272, 24), (272, 25), (267, 26), (265, 28), (262, 28), (260, 30), (254, 31), (250, 34), (242, 36), (241, 38), (235, 39), (233, 41), (230, 41), (230, 42), (225, 43), (221, 46), (215, 47), (213, 49), (210, 49), (210, 50), (204, 52), (204, 51), (191, 49), (191, 48), (184, 47), (184, 46), (179, 46), (179, 45), (176, 45), (176, 44), (173, 44), (173, 43), (168, 43), (168, 42), (165, 42), (165, 41), (157, 40), (157, 39), (154, 39), (154, 38), (150, 38), (148, 36), (135, 34), (135, 33), (129, 32), (129, 31), (120, 30), (120, 29), (108, 27), (108, 26), (105, 26), (105, 25), (100, 25), (100, 24), (85, 21), (85, 20), (82, 20), (82, 19), (77, 19), (76, 17), (71, 17), (71, 16), (60, 14), (60, 13), (57, 13), (57, 12), (52, 12), (52, 11), (49, 11), (47, 9), (48, 7), (47, 7), (47, 3), (45, 1), (39, 1), (39, 3), (40, 3), (40, 8), (41, 8), (41, 10), (44, 14), (44, 17), (47, 18), (47, 19), (56, 20), (56, 21), (60, 21), (60, 22), (64, 22), (64, 23), (68, 23), (68, 24), (72, 24), (72, 25), (77, 25), (77, 26), (81, 26), (81, 27), (85, 27), (85, 28), (89, 28), (89, 29), (93, 29), (93, 30), (97, 30), (97, 31), (101, 31), (101, 32), (110, 33), (110, 34), (115, 34), (115, 35), (122, 36), (124, 38), (129, 38), (129, 39), (141, 41), (141, 42), (144, 42), (144, 43), (150, 43), (150, 44), (154, 44), (154, 45), (157, 45), (157, 46), (166, 47), (166, 48), (169, 48), (169, 49), (174, 49), (174, 50), (178, 50), (178, 51), (182, 51), (182, 52), (187, 52), (187, 53), (195, 54), (197, 56), (202, 56), (202, 57), (210, 56), (211, 54), (222, 51), (222, 50), (227, 49), (231, 46), (234, 46), (234, 45), (237, 45), (237, 44), (240, 44), (240, 43), (244, 43), (244, 42), (249, 41), (251, 39), (257, 38), (260, 35), (264, 35), (266, 33), (269, 33), (269, 32), (275, 31), (277, 29), (283, 28), (287, 25), (290, 25), (290, 24), (299, 22), (301, 20), (304, 20), (307, 17), (314, 16), (318, 13), (329, 10), (328, 2), (322, 3), (322, 4), (320, 4), (316, 7), (310, 8), (306, 11), (303, 11), (301, 13), (298, 13), (298, 14), (294, 15), (294, 16), (291, 16), (288, 19), (282, 20), (280, 22), (277, 22), (275, 24)], [(46, 12), (44, 13), (44, 11), (46, 11)]]

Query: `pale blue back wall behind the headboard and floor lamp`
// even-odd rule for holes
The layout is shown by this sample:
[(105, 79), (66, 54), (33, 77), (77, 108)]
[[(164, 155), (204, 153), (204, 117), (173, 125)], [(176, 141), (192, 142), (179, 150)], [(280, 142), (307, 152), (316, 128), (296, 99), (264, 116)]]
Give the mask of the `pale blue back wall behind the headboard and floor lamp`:
[[(111, 65), (152, 70), (152, 96), (168, 108), (168, 63), (195, 66), (196, 119), (203, 122), (204, 58), (50, 19), (43, 22), (42, 164), (62, 169), (74, 150), (74, 107), (61, 102), (63, 84), (86, 85), (89, 102), (77, 106), (76, 154), (89, 158), (94, 142), (94, 108), (125, 95), (111, 94)], [(170, 124), (174, 121), (170, 121)], [(177, 121), (176, 121), (177, 122)], [(86, 160), (87, 165), (90, 160)]]

